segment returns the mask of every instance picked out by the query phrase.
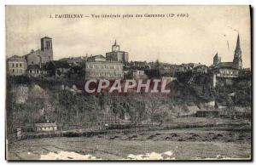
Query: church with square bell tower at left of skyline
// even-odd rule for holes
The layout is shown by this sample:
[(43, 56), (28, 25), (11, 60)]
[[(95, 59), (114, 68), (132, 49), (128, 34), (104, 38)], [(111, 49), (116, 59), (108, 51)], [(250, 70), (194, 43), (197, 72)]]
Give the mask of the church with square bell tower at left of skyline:
[(39, 65), (42, 67), (50, 60), (53, 60), (52, 38), (41, 38), (41, 49), (32, 50), (25, 55), (27, 65)]

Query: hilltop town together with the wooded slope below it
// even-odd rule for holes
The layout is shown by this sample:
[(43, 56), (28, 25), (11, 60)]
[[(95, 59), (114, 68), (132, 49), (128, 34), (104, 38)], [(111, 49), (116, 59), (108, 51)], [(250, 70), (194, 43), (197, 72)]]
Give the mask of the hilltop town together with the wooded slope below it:
[[(200, 117), (251, 117), (251, 71), (242, 67), (239, 35), (234, 60), (223, 62), (217, 53), (210, 66), (134, 61), (116, 41), (106, 55), (54, 60), (53, 48), (52, 38), (43, 37), (41, 49), (7, 59), (9, 139), (52, 131), (63, 135), (63, 131), (80, 128), (85, 134), (88, 128), (128, 127), (137, 134), (148, 124), (165, 128), (175, 123), (174, 118), (189, 117), (196, 122)], [(166, 80), (172, 92), (147, 95), (135, 89), (123, 95), (84, 94), (84, 83), (90, 79), (154, 78)], [(190, 127), (188, 123), (183, 122), (185, 127)]]

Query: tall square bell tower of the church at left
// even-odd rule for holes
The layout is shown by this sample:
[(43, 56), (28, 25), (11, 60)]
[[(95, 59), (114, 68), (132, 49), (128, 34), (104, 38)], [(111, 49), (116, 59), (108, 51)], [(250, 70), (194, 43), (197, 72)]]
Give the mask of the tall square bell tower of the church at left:
[(41, 38), (41, 50), (44, 52), (45, 60), (53, 60), (52, 39), (50, 37)]

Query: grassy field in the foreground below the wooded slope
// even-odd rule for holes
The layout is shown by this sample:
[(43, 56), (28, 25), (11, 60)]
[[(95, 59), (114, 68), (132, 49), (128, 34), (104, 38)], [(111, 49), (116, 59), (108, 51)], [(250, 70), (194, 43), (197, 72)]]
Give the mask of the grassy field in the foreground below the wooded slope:
[(250, 141), (249, 131), (221, 128), (25, 139), (9, 145), (8, 159), (250, 159)]

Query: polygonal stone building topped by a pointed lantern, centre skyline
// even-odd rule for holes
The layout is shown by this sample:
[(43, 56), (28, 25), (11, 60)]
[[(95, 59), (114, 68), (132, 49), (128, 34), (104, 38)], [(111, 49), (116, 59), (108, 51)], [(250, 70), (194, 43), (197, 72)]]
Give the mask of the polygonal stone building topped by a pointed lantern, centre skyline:
[(128, 52), (120, 51), (119, 45), (115, 41), (112, 45), (112, 52), (106, 53), (106, 60), (128, 62), (129, 55)]

